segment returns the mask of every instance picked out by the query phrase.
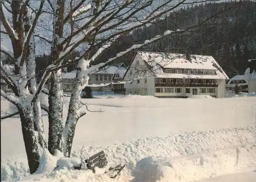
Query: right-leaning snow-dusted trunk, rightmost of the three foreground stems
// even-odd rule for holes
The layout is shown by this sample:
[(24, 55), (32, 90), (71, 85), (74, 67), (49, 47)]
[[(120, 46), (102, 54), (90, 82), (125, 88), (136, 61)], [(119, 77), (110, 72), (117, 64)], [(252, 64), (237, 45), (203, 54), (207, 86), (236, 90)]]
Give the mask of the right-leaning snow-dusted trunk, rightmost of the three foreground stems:
[[(77, 74), (81, 74), (80, 71)], [(80, 77), (78, 79), (77, 77)], [(73, 91), (71, 94), (70, 102), (69, 102), (69, 112), (66, 120), (65, 127), (63, 129), (63, 142), (62, 149), (65, 157), (70, 157), (71, 148), (73, 144), (73, 138), (75, 136), (75, 128), (76, 123), (80, 117), (79, 115), (79, 103), (80, 103), (80, 94), (82, 91), (83, 82), (87, 81), (87, 79), (82, 79), (81, 76), (76, 76), (75, 85), (73, 87)]]

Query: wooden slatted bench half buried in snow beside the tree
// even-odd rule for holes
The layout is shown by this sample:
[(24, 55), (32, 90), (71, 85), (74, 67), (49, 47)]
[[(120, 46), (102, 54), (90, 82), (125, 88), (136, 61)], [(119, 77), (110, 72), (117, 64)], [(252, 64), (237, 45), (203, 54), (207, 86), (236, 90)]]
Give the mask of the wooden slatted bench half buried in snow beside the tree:
[[(108, 164), (108, 161), (106, 160), (106, 156), (104, 151), (100, 151), (90, 157), (89, 159), (85, 160), (86, 167), (95, 173), (95, 167), (103, 168)], [(105, 173), (109, 174), (111, 178), (116, 178), (120, 172), (123, 170), (125, 165), (121, 166), (118, 165), (114, 168), (110, 167), (109, 171), (106, 171)]]

